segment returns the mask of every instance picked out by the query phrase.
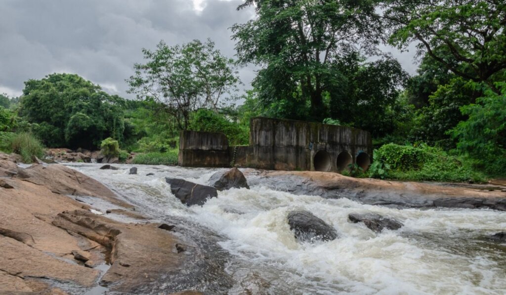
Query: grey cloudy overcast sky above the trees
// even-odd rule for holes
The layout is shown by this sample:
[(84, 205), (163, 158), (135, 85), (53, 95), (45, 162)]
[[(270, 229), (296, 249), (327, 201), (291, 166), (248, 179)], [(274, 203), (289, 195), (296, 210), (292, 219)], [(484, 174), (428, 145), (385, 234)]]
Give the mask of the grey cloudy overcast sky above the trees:
[[(254, 16), (241, 0), (0, 0), (0, 93), (18, 96), (23, 82), (76, 73), (125, 98), (124, 80), (142, 48), (211, 38), (233, 57), (229, 28)], [(383, 47), (414, 73), (413, 52)], [(240, 70), (245, 88), (255, 71)]]

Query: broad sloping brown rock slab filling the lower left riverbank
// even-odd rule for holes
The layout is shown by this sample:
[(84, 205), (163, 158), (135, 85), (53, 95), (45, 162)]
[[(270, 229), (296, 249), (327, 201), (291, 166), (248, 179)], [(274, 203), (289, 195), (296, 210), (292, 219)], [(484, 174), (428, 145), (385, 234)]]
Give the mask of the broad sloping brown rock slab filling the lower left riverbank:
[[(0, 293), (188, 291), (206, 280), (204, 270), (219, 277), (218, 289), (230, 287), (223, 264), (206, 261), (174, 225), (146, 222), (133, 205), (71, 168), (23, 169), (16, 161), (0, 154)], [(106, 218), (79, 196), (137, 221)], [(161, 281), (167, 277), (170, 283)]]

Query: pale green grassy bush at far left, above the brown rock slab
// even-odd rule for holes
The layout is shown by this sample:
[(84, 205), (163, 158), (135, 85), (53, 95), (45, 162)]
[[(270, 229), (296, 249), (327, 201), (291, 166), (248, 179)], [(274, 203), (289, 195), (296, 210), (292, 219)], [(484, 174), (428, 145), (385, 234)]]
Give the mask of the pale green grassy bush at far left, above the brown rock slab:
[(7, 141), (7, 151), (21, 155), (23, 162), (33, 162), (33, 157), (42, 158), (44, 156), (43, 144), (30, 133), (19, 133), (10, 136)]

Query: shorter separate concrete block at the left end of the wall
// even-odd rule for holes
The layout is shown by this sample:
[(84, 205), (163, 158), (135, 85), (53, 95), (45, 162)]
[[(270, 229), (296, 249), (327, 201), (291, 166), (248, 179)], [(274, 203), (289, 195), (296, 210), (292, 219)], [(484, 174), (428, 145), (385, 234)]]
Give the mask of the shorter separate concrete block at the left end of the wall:
[(182, 131), (179, 136), (180, 166), (228, 167), (228, 139), (223, 133)]

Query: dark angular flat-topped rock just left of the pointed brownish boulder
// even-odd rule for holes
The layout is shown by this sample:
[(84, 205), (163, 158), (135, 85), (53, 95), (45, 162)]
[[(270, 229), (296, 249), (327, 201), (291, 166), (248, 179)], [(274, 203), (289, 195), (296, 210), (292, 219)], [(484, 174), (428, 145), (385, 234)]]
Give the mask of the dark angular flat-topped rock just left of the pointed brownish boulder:
[(208, 198), (218, 197), (214, 187), (169, 177), (166, 177), (165, 181), (171, 185), (172, 193), (187, 206), (203, 205)]

